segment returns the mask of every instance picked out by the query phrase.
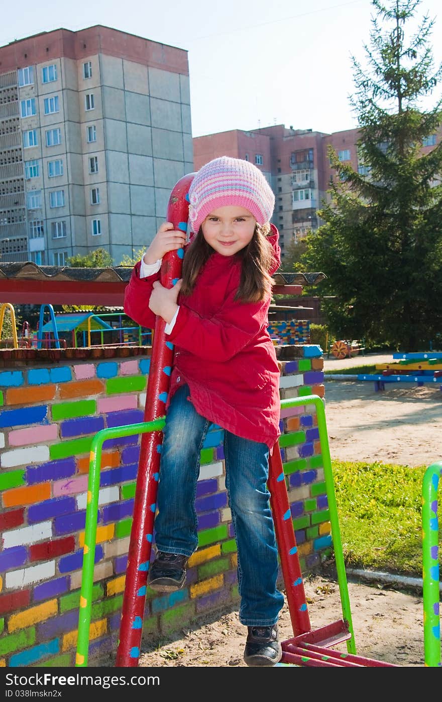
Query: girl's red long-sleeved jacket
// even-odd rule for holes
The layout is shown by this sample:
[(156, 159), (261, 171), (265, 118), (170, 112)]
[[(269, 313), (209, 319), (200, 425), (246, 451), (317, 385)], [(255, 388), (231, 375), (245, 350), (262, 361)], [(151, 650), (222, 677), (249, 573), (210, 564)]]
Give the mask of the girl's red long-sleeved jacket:
[[(272, 225), (273, 274), (279, 267), (279, 234)], [(137, 324), (153, 329), (149, 310), (153, 282), (160, 273), (139, 277), (135, 265), (125, 289), (124, 310)], [(174, 344), (174, 368), (167, 406), (187, 383), (196, 411), (233, 434), (271, 449), (279, 434), (279, 368), (267, 331), (270, 298), (234, 300), (241, 262), (214, 252), (200, 270), (193, 292), (179, 297), (179, 312), (167, 340)]]

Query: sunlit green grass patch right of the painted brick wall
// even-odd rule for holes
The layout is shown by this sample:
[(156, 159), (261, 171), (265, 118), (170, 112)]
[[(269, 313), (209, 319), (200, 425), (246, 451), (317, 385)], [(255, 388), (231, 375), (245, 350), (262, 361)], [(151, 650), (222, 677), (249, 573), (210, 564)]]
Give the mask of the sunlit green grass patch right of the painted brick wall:
[(422, 578), (427, 466), (332, 461), (332, 469), (345, 564)]

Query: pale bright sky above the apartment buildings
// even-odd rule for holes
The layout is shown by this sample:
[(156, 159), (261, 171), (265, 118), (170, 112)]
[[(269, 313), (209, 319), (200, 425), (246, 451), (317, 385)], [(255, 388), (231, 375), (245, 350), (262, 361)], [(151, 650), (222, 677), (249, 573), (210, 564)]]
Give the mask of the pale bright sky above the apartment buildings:
[[(364, 63), (374, 13), (371, 0), (8, 1), (0, 46), (60, 27), (106, 25), (188, 51), (194, 137), (272, 124), (333, 132), (357, 126), (350, 57)], [(417, 18), (424, 13), (435, 19), (436, 67), (442, 1), (422, 0)]]

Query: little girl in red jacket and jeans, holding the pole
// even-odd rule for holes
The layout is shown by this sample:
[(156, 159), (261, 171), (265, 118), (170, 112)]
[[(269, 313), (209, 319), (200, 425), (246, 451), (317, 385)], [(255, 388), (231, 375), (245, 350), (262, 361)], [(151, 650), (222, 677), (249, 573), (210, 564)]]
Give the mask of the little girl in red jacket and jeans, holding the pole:
[(280, 434), (279, 369), (267, 331), (270, 276), (280, 261), (279, 234), (269, 224), (275, 196), (256, 166), (221, 157), (195, 174), (189, 201), (195, 236), (185, 247), (182, 279), (171, 289), (159, 282), (165, 253), (186, 242), (165, 222), (125, 291), (125, 312), (148, 328), (155, 315), (163, 317), (175, 349), (149, 585), (172, 592), (186, 581), (198, 545), (200, 451), (215, 423), (223, 428), (240, 622), (248, 628), (244, 661), (274, 665), (282, 657), (277, 620), (284, 604), (267, 490), (269, 451)]

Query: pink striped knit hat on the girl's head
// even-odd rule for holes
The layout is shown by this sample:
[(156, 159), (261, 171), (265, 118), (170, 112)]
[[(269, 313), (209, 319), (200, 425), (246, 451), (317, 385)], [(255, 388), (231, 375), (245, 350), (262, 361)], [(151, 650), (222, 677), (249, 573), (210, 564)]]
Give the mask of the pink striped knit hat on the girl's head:
[(254, 164), (221, 156), (200, 168), (188, 192), (189, 220), (197, 234), (209, 213), (219, 207), (244, 207), (260, 225), (267, 223), (275, 207), (275, 195)]

